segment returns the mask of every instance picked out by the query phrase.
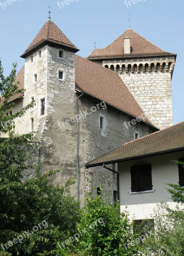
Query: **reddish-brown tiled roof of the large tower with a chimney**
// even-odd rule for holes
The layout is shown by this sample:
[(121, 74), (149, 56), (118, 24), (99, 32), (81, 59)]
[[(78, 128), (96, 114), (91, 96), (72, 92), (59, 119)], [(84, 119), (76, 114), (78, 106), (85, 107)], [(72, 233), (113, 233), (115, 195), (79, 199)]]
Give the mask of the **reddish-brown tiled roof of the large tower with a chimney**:
[[(131, 54), (124, 55), (124, 38), (130, 38)], [(165, 52), (155, 46), (147, 39), (143, 38), (133, 29), (127, 29), (120, 37), (113, 41), (109, 46), (102, 49), (94, 49), (87, 57), (88, 59), (99, 58), (128, 58), (138, 56), (155, 55), (176, 55), (175, 53)]]

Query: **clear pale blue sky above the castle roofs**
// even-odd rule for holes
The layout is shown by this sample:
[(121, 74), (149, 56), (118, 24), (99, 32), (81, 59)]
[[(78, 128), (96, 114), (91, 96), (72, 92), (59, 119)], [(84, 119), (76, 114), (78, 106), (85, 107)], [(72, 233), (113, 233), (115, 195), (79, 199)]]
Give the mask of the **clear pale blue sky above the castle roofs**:
[(0, 6), (0, 58), (5, 75), (14, 61), (17, 71), (23, 66), (24, 59), (19, 56), (46, 22), (49, 2), (52, 20), (83, 57), (89, 55), (95, 41), (97, 48), (103, 48), (118, 38), (128, 27), (129, 12), (132, 29), (165, 51), (177, 53), (172, 80), (173, 122), (184, 121), (184, 0), (129, 0), (128, 7), (124, 0), (60, 0), (61, 9), (58, 0), (0, 2), (5, 1), (7, 7)]

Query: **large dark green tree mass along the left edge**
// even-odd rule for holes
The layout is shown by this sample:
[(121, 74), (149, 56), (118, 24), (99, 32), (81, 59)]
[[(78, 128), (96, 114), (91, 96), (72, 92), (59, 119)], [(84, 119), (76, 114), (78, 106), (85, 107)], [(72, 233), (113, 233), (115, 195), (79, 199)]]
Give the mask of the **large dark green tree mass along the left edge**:
[[(11, 96), (23, 93), (16, 82), (16, 66), (8, 77), (3, 76), (0, 61), (0, 255), (37, 255), (55, 248), (55, 241), (75, 232), (80, 212), (78, 201), (70, 194), (69, 180), (65, 186), (54, 186), (56, 172), (39, 175), (40, 166), (32, 166), (26, 148), (33, 147), (34, 132), (15, 134), (14, 119), (31, 108), (32, 101), (21, 111), (5, 115), (14, 106)], [(4, 136), (6, 135), (6, 137)], [(7, 136), (8, 135), (8, 136)], [(27, 163), (30, 163), (29, 165)], [(35, 177), (22, 181), (22, 172), (32, 168)]]

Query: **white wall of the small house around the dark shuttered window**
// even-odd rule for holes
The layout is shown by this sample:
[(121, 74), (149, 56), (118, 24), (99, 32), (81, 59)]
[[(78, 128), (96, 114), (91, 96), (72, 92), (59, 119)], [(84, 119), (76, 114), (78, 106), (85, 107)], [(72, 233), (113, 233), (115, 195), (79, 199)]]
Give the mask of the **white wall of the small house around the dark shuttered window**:
[[(156, 204), (161, 200), (168, 202), (169, 206), (174, 208), (175, 203), (170, 199), (170, 193), (166, 190), (169, 186), (166, 183), (178, 184), (178, 166), (171, 161), (182, 157), (184, 157), (184, 151), (118, 163), (121, 212), (125, 210), (125, 206), (128, 206), (130, 219), (150, 218)], [(131, 166), (150, 163), (153, 192), (131, 194)]]

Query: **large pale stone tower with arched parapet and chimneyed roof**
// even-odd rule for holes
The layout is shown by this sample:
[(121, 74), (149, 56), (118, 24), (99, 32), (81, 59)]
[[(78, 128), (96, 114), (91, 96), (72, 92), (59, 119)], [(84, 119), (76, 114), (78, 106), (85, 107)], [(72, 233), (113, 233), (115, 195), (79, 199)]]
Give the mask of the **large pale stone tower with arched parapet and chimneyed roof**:
[(94, 49), (88, 59), (121, 76), (152, 124), (162, 129), (173, 125), (171, 79), (176, 54), (165, 52), (134, 30), (103, 49)]

